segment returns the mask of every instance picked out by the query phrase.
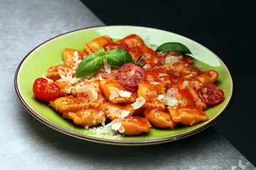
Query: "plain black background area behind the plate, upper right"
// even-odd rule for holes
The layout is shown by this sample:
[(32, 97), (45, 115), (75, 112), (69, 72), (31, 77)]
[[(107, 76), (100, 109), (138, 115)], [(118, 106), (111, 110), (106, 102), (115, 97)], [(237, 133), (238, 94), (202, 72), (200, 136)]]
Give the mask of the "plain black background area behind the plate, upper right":
[(106, 25), (169, 30), (215, 52), (233, 72), (236, 94), (213, 127), (256, 166), (256, 10), (252, 1), (82, 2)]

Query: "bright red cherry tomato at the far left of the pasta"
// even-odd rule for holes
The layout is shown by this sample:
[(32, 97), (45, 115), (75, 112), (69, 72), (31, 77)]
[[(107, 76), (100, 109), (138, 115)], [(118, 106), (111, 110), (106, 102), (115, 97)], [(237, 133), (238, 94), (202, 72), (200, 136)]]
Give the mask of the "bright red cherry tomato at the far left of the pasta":
[(39, 101), (53, 101), (60, 96), (60, 87), (47, 79), (38, 78), (33, 83), (33, 94)]

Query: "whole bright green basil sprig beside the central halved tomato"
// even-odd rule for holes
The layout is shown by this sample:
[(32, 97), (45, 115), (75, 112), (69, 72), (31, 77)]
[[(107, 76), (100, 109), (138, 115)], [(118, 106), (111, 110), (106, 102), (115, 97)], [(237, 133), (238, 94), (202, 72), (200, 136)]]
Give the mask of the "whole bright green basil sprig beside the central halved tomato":
[(87, 57), (80, 62), (75, 72), (75, 77), (87, 77), (100, 72), (100, 69), (103, 67), (103, 60), (111, 67), (118, 68), (128, 62), (133, 63), (132, 55), (126, 50), (117, 48), (105, 52), (104, 48), (100, 46), (99, 52), (87, 55)]

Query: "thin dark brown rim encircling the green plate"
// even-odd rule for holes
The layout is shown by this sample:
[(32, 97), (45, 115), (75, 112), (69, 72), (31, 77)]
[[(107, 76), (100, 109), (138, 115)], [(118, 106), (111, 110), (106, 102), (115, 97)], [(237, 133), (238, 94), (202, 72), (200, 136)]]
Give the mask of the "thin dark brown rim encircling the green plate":
[[(223, 111), (221, 111), (215, 118), (213, 118), (213, 120), (210, 120), (208, 123), (206, 123), (205, 125), (202, 125), (196, 129), (190, 130), (188, 132), (183, 132), (181, 134), (178, 135), (174, 135), (171, 137), (163, 137), (163, 138), (159, 138), (159, 139), (154, 139), (154, 140), (110, 140), (110, 139), (105, 139), (105, 138), (100, 138), (100, 137), (92, 137), (92, 136), (88, 136), (88, 135), (82, 135), (78, 132), (73, 132), (71, 130), (67, 130), (65, 128), (62, 128), (58, 125), (55, 125), (54, 123), (51, 123), (50, 121), (46, 120), (45, 118), (43, 118), (41, 115), (39, 115), (38, 113), (36, 113), (36, 111), (33, 111), (33, 109), (28, 106), (28, 104), (26, 103), (26, 101), (23, 99), (23, 97), (21, 96), (21, 93), (18, 89), (18, 73), (19, 70), (23, 64), (23, 62), (26, 60), (26, 58), (31, 55), (31, 53), (36, 50), (38, 47), (41, 47), (41, 45), (44, 45), (46, 42), (49, 42), (50, 40), (53, 40), (55, 38), (58, 38), (60, 36), (69, 34), (69, 33), (73, 33), (73, 32), (77, 32), (80, 30), (87, 30), (90, 28), (102, 28), (102, 27), (115, 27), (115, 26), (128, 26), (128, 27), (139, 27), (139, 28), (149, 28), (149, 29), (156, 29), (156, 30), (161, 30), (161, 31), (166, 31), (169, 33), (173, 33), (169, 30), (164, 30), (164, 29), (159, 29), (159, 28), (153, 28), (153, 27), (146, 27), (146, 26), (129, 26), (129, 25), (111, 25), (111, 26), (92, 26), (92, 27), (87, 27), (87, 28), (80, 28), (77, 30), (71, 30), (68, 31), (66, 33), (62, 33), (60, 35), (57, 35), (53, 38), (50, 38), (48, 40), (46, 40), (45, 42), (42, 42), (40, 45), (36, 46), (33, 48), (33, 50), (31, 50), (30, 52), (28, 52), (28, 54), (23, 58), (23, 60), (21, 60), (20, 64), (18, 64), (18, 67), (16, 69), (15, 72), (15, 76), (14, 76), (14, 87), (15, 87), (15, 91), (16, 94), (18, 96), (19, 101), (21, 102), (21, 104), (23, 105), (24, 108), (26, 108), (26, 111), (28, 111), (28, 113), (30, 113), (31, 115), (33, 115), (34, 118), (36, 118), (37, 120), (39, 120), (41, 123), (48, 125), (48, 127), (53, 128), (54, 130), (57, 130), (58, 132), (63, 132), (65, 135), (70, 135), (72, 137), (77, 137), (78, 139), (81, 140), (87, 140), (87, 141), (91, 141), (91, 142), (99, 142), (99, 143), (104, 143), (104, 144), (110, 144), (110, 145), (154, 145), (154, 144), (159, 144), (159, 143), (164, 143), (164, 142), (171, 142), (174, 140), (180, 140), (184, 137), (188, 137), (191, 135), (195, 135), (198, 132), (201, 132), (202, 130), (205, 130), (206, 128), (209, 128), (211, 125), (213, 125), (217, 120), (220, 119), (220, 117), (223, 116), (223, 114), (228, 111), (228, 108), (231, 106), (231, 104), (233, 103), (233, 99), (235, 97), (235, 79), (233, 77), (233, 73), (230, 71), (230, 68), (228, 67), (228, 65), (218, 56), (215, 55), (216, 57), (218, 57), (218, 59), (223, 62), (223, 64), (225, 65), (225, 67), (228, 69), (228, 72), (230, 74), (231, 80), (233, 82), (233, 89), (232, 89), (232, 94), (230, 96), (230, 101), (228, 101), (227, 105), (225, 106), (225, 108), (223, 108)], [(178, 33), (174, 33), (176, 35), (182, 36), (183, 38), (187, 38), (186, 36), (180, 35)], [(192, 40), (191, 38), (187, 38), (189, 40)], [(196, 40), (192, 40), (194, 42), (197, 42)], [(197, 42), (199, 45), (201, 45), (201, 43)], [(203, 47), (205, 47), (204, 45), (202, 45)], [(207, 50), (210, 50), (208, 47), (205, 47)], [(210, 50), (210, 52), (213, 52), (212, 50)], [(213, 54), (215, 54), (213, 52)]]

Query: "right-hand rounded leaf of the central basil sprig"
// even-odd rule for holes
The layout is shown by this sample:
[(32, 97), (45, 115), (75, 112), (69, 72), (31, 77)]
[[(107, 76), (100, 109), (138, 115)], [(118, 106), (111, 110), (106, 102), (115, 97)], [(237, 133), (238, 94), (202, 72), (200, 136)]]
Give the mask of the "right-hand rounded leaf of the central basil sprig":
[(122, 48), (116, 48), (114, 50), (108, 50), (105, 53), (105, 57), (107, 58), (107, 64), (109, 64), (112, 67), (121, 67), (123, 64), (126, 64), (128, 62), (133, 63), (132, 55), (127, 52), (126, 50), (123, 50)]

